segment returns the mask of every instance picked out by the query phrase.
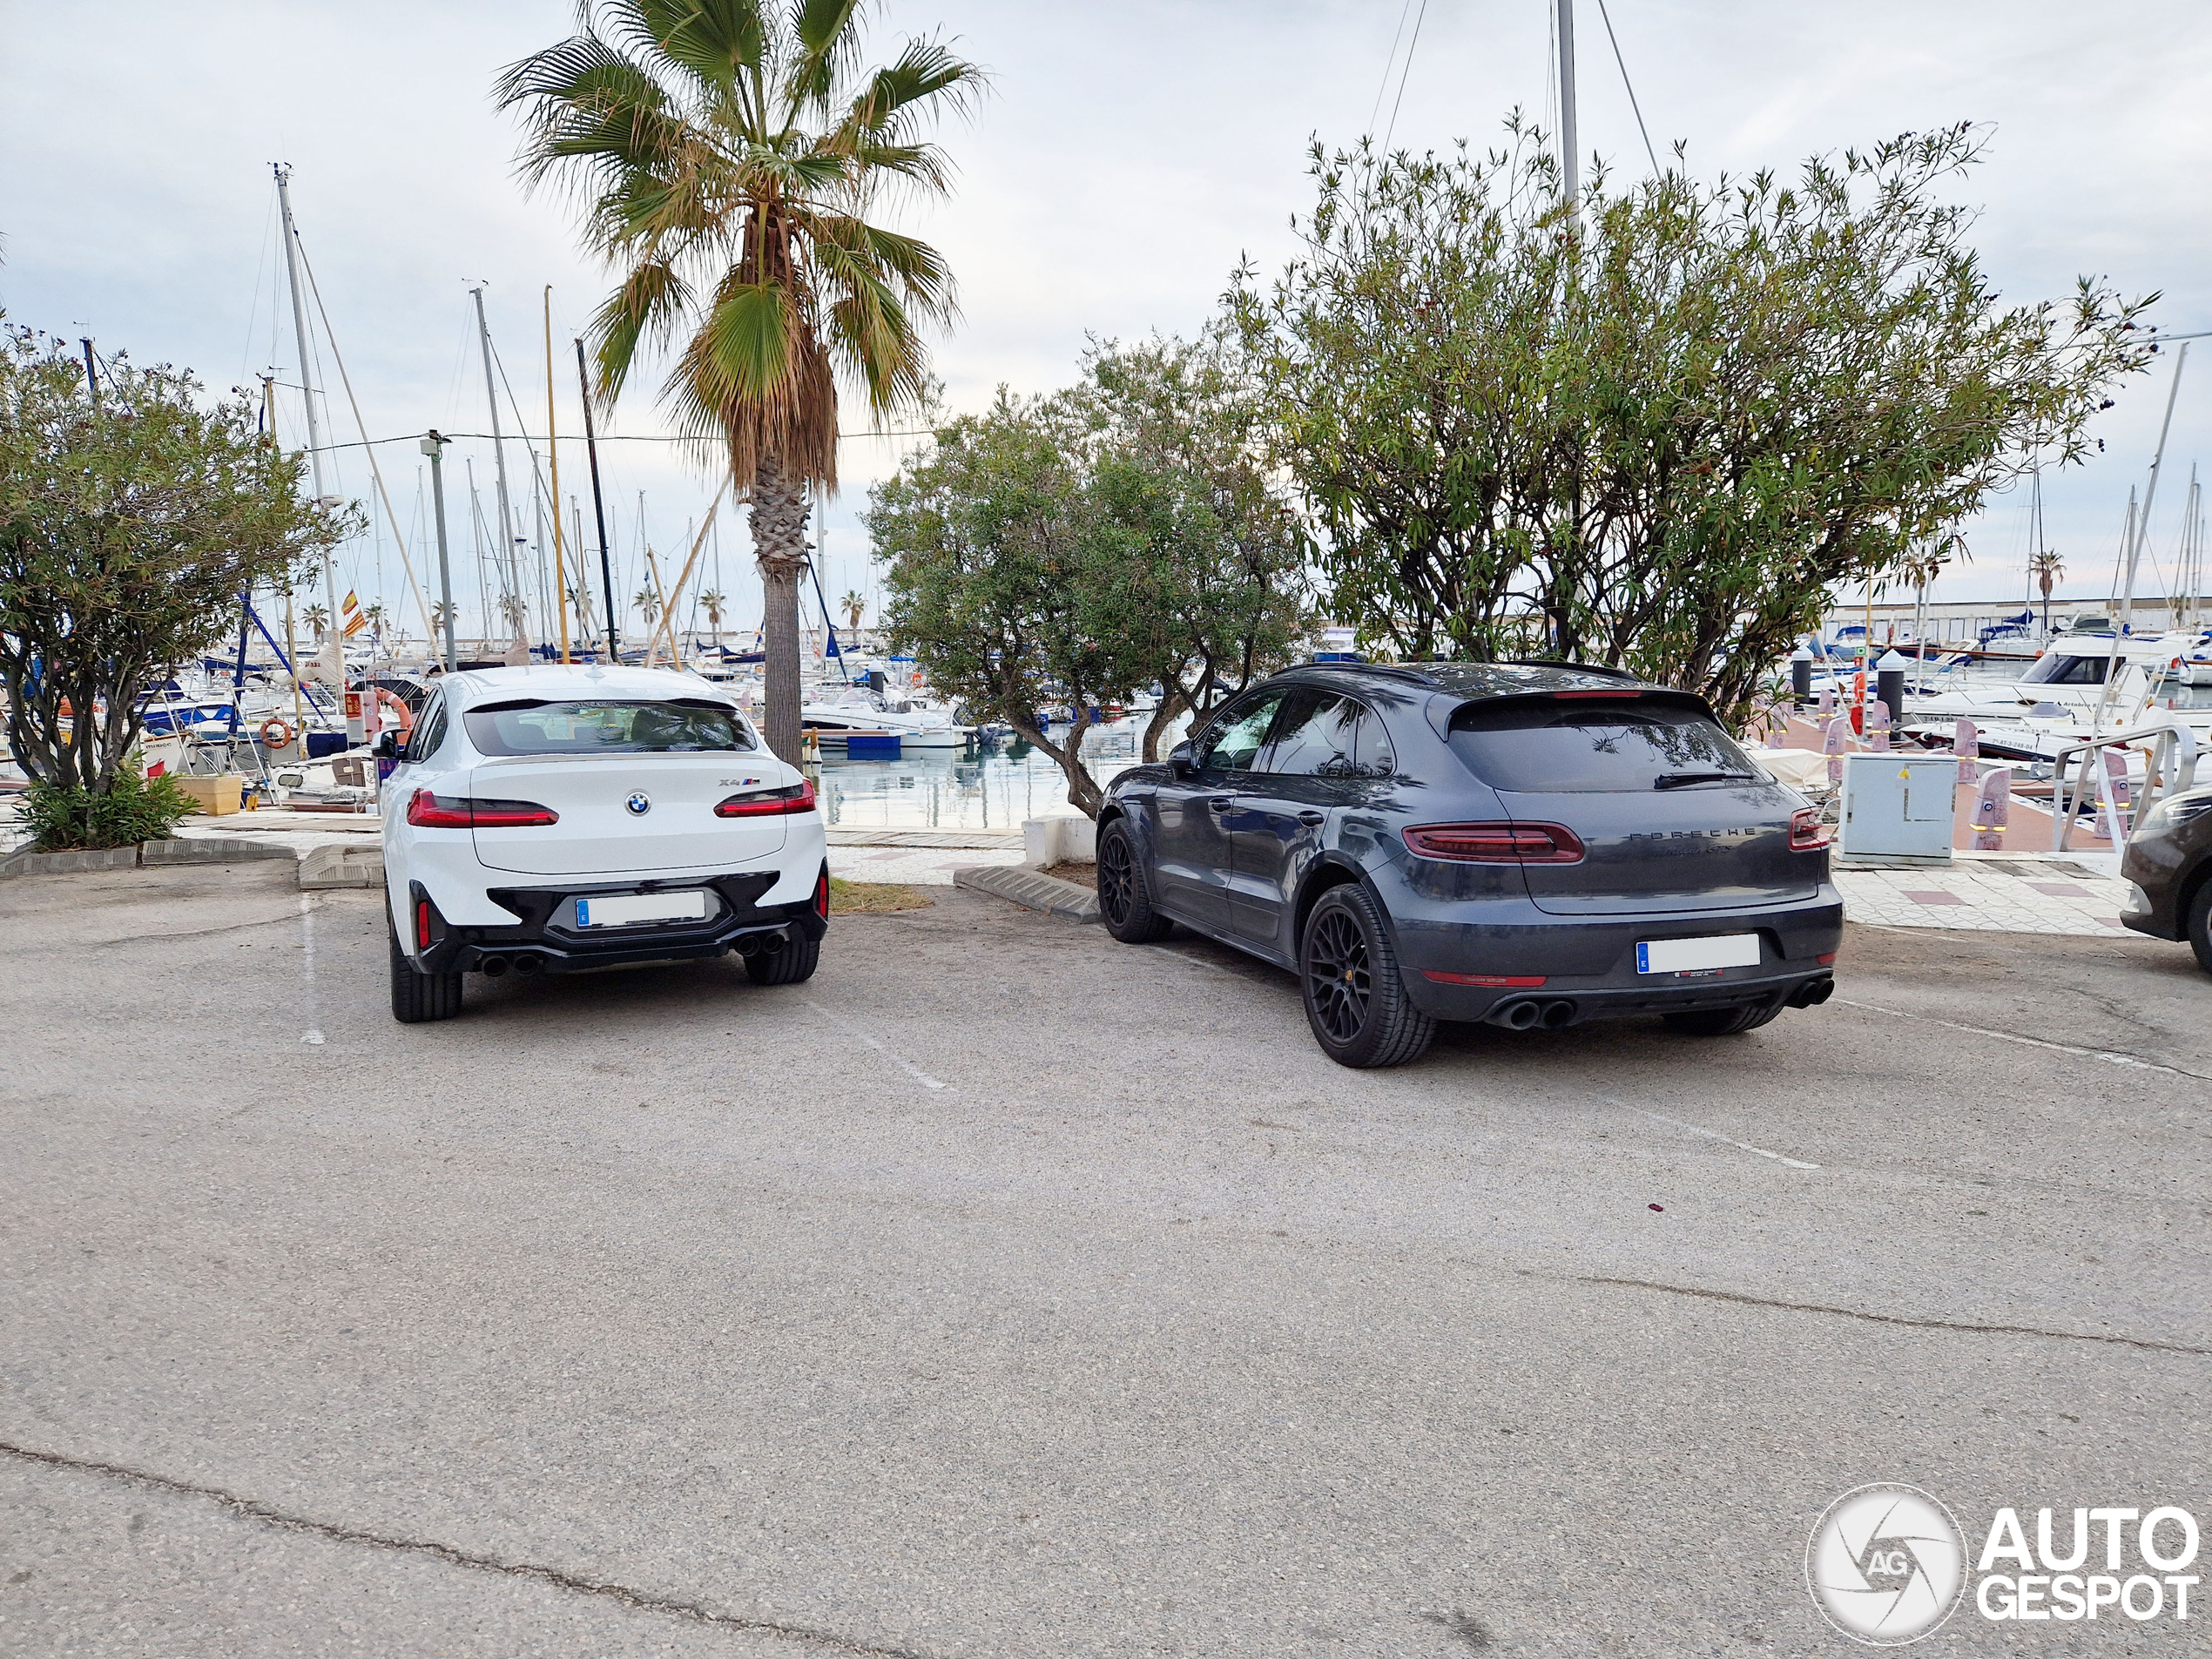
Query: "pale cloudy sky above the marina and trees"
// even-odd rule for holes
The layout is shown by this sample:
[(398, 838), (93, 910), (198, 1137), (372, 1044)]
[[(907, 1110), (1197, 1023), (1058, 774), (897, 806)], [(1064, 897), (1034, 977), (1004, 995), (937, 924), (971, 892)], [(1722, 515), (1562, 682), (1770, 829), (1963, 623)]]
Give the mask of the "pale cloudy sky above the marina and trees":
[[(1694, 173), (1794, 168), (1814, 153), (1958, 119), (1989, 128), (1989, 159), (1955, 186), (1980, 210), (1973, 241), (2006, 301), (2064, 296), (2077, 274), (2163, 292), (2154, 321), (2212, 330), (2212, 7), (2203, 0), (1606, 0), (1619, 58), (1661, 155), (1688, 142)], [(484, 307), (531, 434), (544, 431), (542, 294), (553, 290), (562, 498), (591, 493), (573, 336), (608, 276), (575, 250), (568, 204), (515, 181), (518, 128), (491, 104), (495, 73), (568, 33), (564, 0), (405, 4), (195, 0), (102, 7), (0, 0), (0, 310), (97, 352), (190, 365), (212, 387), (299, 383), (279, 276), (270, 164), (292, 166), (292, 206), (361, 420), (372, 438), (487, 431), (469, 290)], [(1046, 392), (1075, 376), (1093, 336), (1194, 332), (1230, 272), (1292, 257), (1312, 201), (1307, 144), (1389, 131), (1396, 146), (1489, 142), (1520, 106), (1557, 108), (1551, 0), (889, 0), (872, 58), (942, 35), (991, 73), (991, 91), (940, 139), (956, 195), (902, 215), (960, 281), (962, 316), (936, 341), (951, 409), (1000, 385)], [(1624, 173), (1644, 144), (1595, 0), (1575, 4), (1582, 150)], [(2141, 484), (2172, 376), (2166, 347), (2099, 416), (2104, 453), (2044, 478), (2046, 542), (2062, 593), (2101, 597), (2128, 489)], [(325, 442), (361, 438), (327, 347)], [(2188, 469), (2212, 467), (2212, 341), (2174, 403), (2150, 557), (2170, 566)], [(681, 564), (714, 480), (668, 445), (639, 378), (602, 445), (617, 599), (644, 584), (639, 526)], [(504, 414), (504, 411), (502, 411)], [(303, 440), (279, 392), (279, 431)], [(504, 416), (509, 431), (511, 416)], [(847, 429), (860, 427), (847, 418)], [(843, 491), (821, 524), (834, 602), (872, 588), (858, 515), (867, 484), (911, 438), (852, 436)], [(542, 449), (542, 447), (540, 447)], [(378, 451), (418, 571), (422, 458)], [(369, 495), (365, 451), (332, 453), (332, 487)], [(476, 613), (469, 467), (495, 524), (491, 445), (447, 451), (462, 628)], [(529, 458), (509, 445), (526, 500)], [(639, 491), (644, 504), (639, 509)], [(533, 533), (529, 522), (524, 533)], [(2006, 495), (1966, 526), (1971, 560), (1942, 599), (2026, 591), (2026, 504)], [(701, 555), (759, 619), (743, 524), (723, 507)], [(380, 582), (407, 604), (394, 535), (341, 555), (341, 591)], [(2163, 588), (2146, 568), (2146, 588)], [(874, 606), (869, 608), (874, 615)], [(420, 630), (420, 624), (414, 624)], [(635, 613), (624, 617), (635, 630)]]

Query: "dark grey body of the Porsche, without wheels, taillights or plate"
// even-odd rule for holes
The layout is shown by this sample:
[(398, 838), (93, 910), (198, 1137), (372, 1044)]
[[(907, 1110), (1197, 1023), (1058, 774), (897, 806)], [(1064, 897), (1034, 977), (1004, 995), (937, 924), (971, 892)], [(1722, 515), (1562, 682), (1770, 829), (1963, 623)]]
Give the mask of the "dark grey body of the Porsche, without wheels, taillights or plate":
[[(1356, 710), (1334, 726), (1345, 752), (1318, 763), (1312, 745), (1283, 752), (1314, 697)], [(1599, 714), (1621, 708), (1701, 728), (1697, 754), (1721, 759), (1686, 761), (1659, 785), (1586, 787), (1575, 745), (1588, 759)], [(1577, 710), (1586, 710), (1582, 726)], [(1250, 745), (1254, 721), (1265, 721), (1259, 748)], [(1542, 728), (1542, 741), (1515, 737), (1509, 776), (1498, 776), (1480, 743), (1484, 726)], [(1557, 768), (1544, 761), (1544, 743)], [(1752, 776), (1708, 781), (1699, 765)], [(1150, 905), (1199, 933), (1298, 971), (1316, 900), (1338, 883), (1360, 883), (1387, 918), (1396, 969), (1425, 1015), (1520, 1026), (1533, 1020), (1517, 1004), (1535, 1004), (1544, 1024), (1562, 1026), (1823, 1000), (1843, 900), (1825, 836), (1818, 847), (1792, 845), (1792, 821), (1805, 810), (1688, 692), (1571, 664), (1314, 664), (1225, 703), (1170, 763), (1121, 772), (1099, 830), (1126, 823)], [(1405, 836), (1422, 825), (1500, 823), (1566, 825), (1582, 854), (1462, 863), (1416, 856)], [(1714, 933), (1756, 933), (1761, 960), (1639, 971), (1641, 942)], [(1524, 984), (1467, 982), (1482, 978)]]

